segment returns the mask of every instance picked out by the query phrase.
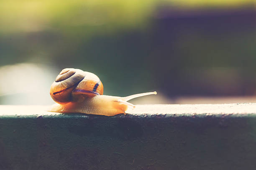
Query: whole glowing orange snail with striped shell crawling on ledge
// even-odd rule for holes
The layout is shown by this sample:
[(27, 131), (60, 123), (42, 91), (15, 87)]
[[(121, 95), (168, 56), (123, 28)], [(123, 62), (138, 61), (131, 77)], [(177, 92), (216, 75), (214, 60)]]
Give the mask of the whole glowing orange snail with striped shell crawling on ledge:
[(135, 107), (127, 102), (136, 97), (156, 94), (145, 92), (127, 97), (103, 95), (103, 84), (97, 75), (79, 69), (61, 70), (52, 83), (51, 98), (56, 102), (51, 112), (79, 112), (93, 115), (113, 116), (124, 113), (128, 107)]

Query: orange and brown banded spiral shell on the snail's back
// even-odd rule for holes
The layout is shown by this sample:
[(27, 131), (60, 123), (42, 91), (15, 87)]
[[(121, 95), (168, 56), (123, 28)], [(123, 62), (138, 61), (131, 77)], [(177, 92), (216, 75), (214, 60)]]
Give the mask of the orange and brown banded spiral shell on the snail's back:
[(52, 83), (51, 98), (60, 104), (72, 102), (74, 95), (103, 95), (103, 84), (97, 75), (74, 68), (61, 70)]

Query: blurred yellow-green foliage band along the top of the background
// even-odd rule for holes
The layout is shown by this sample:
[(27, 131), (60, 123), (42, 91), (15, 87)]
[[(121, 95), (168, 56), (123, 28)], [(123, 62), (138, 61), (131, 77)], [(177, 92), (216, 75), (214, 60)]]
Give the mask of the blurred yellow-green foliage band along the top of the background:
[[(254, 0), (3, 0), (0, 5), (0, 32), (55, 30), (66, 35), (87, 32), (83, 34), (87, 36), (97, 31), (105, 34), (117, 28), (139, 28), (159, 6), (235, 8), (254, 3)], [(83, 28), (85, 25), (86, 30)]]

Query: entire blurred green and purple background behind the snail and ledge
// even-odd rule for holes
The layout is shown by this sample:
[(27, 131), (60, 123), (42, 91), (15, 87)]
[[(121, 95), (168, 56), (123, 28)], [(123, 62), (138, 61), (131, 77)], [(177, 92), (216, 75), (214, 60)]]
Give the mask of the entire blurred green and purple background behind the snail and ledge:
[(53, 103), (66, 67), (151, 103), (254, 96), (255, 65), (255, 0), (0, 2), (0, 104)]

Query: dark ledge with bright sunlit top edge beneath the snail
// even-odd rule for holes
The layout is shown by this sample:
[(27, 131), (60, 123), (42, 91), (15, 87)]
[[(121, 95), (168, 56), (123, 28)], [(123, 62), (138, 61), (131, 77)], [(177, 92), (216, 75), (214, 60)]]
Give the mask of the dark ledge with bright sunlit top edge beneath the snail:
[(0, 106), (1, 170), (256, 167), (256, 104), (138, 105), (113, 117), (46, 109)]

